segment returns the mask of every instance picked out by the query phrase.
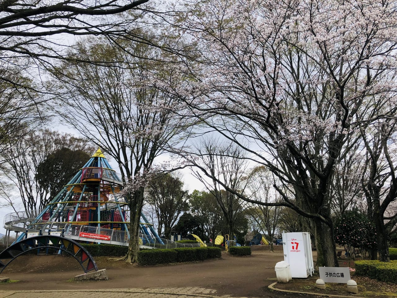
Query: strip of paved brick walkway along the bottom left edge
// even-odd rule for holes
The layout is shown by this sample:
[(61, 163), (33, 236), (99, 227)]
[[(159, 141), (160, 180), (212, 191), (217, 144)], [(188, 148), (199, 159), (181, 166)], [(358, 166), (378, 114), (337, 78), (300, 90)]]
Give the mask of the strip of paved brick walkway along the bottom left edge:
[[(125, 288), (98, 290), (1, 291), (0, 298), (214, 298), (215, 290), (187, 288)], [(216, 296), (229, 298), (231, 296)], [(246, 298), (246, 297), (241, 297)]]

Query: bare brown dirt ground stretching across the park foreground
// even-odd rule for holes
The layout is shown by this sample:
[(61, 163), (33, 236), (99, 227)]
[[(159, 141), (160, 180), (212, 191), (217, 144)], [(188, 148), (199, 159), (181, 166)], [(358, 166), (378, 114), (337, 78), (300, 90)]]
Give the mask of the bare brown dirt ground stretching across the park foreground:
[[(161, 266), (132, 266), (114, 261), (108, 257), (96, 257), (99, 269), (106, 268), (108, 281), (73, 281), (73, 277), (84, 273), (73, 257), (62, 255), (29, 255), (15, 259), (3, 271), (2, 276), (18, 280), (16, 283), (0, 284), (0, 290), (74, 290), (100, 288), (158, 288), (200, 286), (214, 289), (217, 295), (237, 297), (312, 297), (289, 294), (268, 289), (276, 281), (274, 265), (283, 260), (282, 247), (269, 252), (268, 247), (253, 247), (252, 255), (233, 257), (222, 253), (222, 259), (204, 262), (176, 263)], [(314, 257), (316, 253), (314, 252)], [(345, 263), (345, 264), (343, 264)], [(352, 263), (341, 261), (341, 266)], [(294, 279), (292, 283), (278, 284), (277, 288), (303, 292), (317, 292), (318, 276), (309, 279)], [(382, 284), (372, 280), (355, 279), (361, 286), (360, 296), (365, 291), (368, 297), (397, 297), (397, 285)], [(364, 284), (364, 285), (363, 285)], [(368, 289), (367, 289), (368, 288)], [(386, 291), (388, 289), (388, 291)], [(383, 295), (383, 292), (389, 294)], [(327, 285), (327, 294), (347, 294), (345, 285), (341, 288)], [(375, 294), (382, 294), (375, 296)]]

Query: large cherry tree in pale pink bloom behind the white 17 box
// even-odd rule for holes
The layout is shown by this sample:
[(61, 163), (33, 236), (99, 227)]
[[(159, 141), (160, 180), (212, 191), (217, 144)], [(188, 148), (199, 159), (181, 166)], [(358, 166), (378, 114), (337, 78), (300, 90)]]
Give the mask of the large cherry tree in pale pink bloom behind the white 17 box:
[(359, 124), (393, 116), (395, 6), (208, 0), (184, 9), (177, 28), (200, 64), (181, 70), (189, 81), (173, 92), (297, 194), (275, 186), (284, 205), (313, 219), (317, 265), (337, 267), (331, 181)]

